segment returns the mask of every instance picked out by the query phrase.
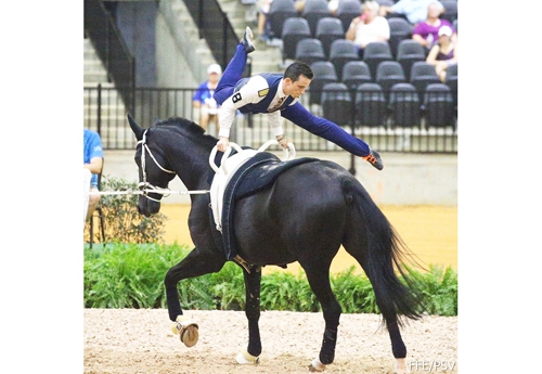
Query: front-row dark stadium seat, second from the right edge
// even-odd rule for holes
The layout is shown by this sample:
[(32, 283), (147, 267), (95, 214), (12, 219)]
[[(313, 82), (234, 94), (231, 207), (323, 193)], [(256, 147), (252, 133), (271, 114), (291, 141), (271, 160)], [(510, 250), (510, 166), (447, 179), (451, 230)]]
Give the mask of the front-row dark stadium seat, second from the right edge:
[(393, 128), (421, 127), (421, 103), (416, 88), (413, 85), (393, 85), (389, 95), (388, 108), (391, 113), (391, 126)]

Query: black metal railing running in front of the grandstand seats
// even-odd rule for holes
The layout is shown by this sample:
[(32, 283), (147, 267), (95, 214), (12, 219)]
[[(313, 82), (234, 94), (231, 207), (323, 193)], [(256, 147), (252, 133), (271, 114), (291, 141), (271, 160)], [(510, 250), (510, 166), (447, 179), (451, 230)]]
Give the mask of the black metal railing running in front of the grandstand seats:
[[(192, 107), (194, 92), (195, 89), (137, 88), (133, 91), (133, 109), (128, 111), (124, 100), (114, 88), (103, 88), (101, 85), (86, 87), (83, 88), (85, 127), (100, 132), (104, 150), (134, 150), (137, 141), (126, 119), (128, 112), (144, 128), (152, 126), (156, 119), (176, 116), (197, 122), (197, 112)], [(310, 104), (310, 94), (321, 93), (307, 92), (300, 98), (300, 103), (312, 114), (326, 118), (335, 115), (324, 113), (322, 105)], [(433, 100), (433, 107), (425, 104), (420, 106), (420, 119), (412, 119), (414, 124), (412, 126), (409, 125), (409, 118), (400, 119), (401, 124), (396, 119), (396, 112), (410, 113), (412, 107), (404, 107), (402, 111), (399, 105), (392, 111), (388, 105), (384, 122), (376, 126), (361, 119), (358, 113), (360, 112), (359, 105), (354, 100), (337, 104), (335, 108), (341, 114), (349, 113), (350, 117), (347, 116), (337, 124), (346, 131), (353, 132), (356, 137), (366, 141), (374, 150), (404, 153), (456, 153), (456, 107), (453, 108), (453, 118), (446, 119), (443, 114), (444, 112), (449, 114), (449, 103), (438, 96)], [(439, 105), (442, 105), (441, 108)], [(371, 115), (371, 107), (369, 112)], [(438, 126), (429, 126), (431, 121), (433, 124), (437, 121)], [(283, 128), (286, 136), (293, 139), (298, 151), (343, 151), (339, 146), (286, 119), (284, 119)], [(209, 124), (207, 130), (209, 134), (216, 136), (215, 124)], [(242, 146), (255, 149), (273, 138), (266, 115), (237, 115), (230, 137), (231, 141)]]

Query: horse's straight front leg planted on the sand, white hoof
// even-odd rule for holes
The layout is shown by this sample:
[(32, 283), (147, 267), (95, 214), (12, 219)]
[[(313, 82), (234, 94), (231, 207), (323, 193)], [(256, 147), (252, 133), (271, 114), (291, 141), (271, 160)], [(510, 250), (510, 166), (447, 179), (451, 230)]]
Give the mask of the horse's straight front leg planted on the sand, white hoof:
[(241, 364), (257, 364), (261, 353), (260, 327), (260, 287), (261, 267), (255, 267), (248, 273), (243, 269), (245, 278), (246, 306), (245, 315), (248, 320), (248, 347), (235, 358)]

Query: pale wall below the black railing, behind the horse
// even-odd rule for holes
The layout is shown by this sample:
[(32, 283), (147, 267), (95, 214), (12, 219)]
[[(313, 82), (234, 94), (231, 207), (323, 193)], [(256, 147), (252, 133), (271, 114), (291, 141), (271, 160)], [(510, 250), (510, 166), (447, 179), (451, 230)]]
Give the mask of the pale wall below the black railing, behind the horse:
[[(138, 168), (133, 160), (136, 151), (104, 151), (104, 175), (138, 181)], [(279, 157), (283, 154), (278, 153)], [(356, 177), (367, 190), (376, 204), (382, 205), (457, 205), (457, 156), (446, 154), (380, 153), (384, 169), (376, 170), (360, 157), (356, 157)], [(347, 152), (298, 152), (299, 157), (330, 159), (350, 168)], [(186, 189), (176, 178), (169, 184), (172, 191)], [(164, 204), (190, 204), (189, 195), (171, 194)]]

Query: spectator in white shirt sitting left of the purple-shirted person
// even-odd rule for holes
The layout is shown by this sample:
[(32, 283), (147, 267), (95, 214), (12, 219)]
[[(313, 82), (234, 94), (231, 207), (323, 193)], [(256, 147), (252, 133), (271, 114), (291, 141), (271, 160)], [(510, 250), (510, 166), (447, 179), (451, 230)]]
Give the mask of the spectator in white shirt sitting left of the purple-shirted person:
[(389, 40), (388, 20), (378, 15), (379, 7), (376, 1), (365, 1), (361, 5), (363, 13), (352, 20), (346, 31), (345, 39), (352, 40), (358, 47), (360, 59), (363, 59), (363, 49), (370, 42)]

